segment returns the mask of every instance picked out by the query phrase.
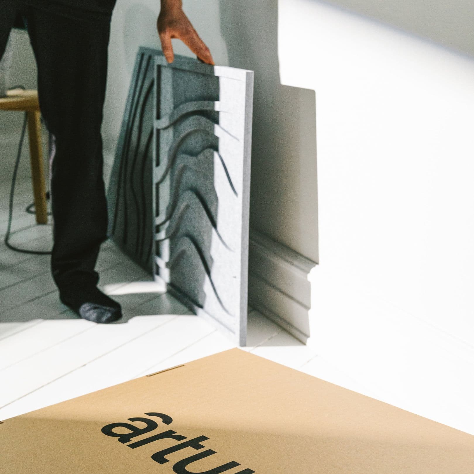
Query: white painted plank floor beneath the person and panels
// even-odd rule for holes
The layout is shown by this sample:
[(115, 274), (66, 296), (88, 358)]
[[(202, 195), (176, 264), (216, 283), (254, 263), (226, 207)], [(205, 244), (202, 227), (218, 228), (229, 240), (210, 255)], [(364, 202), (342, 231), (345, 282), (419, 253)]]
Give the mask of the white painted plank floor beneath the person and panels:
[[(19, 182), (13, 242), (51, 246), (51, 227), (35, 226), (24, 209), (29, 182)], [(0, 182), (0, 419), (36, 410), (234, 347), (191, 315), (111, 243), (98, 262), (100, 287), (123, 305), (124, 319), (96, 325), (58, 300), (49, 257), (15, 253), (3, 244), (9, 183)], [(250, 310), (244, 350), (371, 395), (256, 311)]]

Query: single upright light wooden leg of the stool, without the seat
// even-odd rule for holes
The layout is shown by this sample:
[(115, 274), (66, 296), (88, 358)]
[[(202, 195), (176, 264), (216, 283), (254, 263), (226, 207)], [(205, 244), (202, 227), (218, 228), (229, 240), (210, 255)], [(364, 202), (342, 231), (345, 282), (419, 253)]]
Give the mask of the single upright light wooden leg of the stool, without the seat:
[(31, 178), (35, 196), (36, 222), (47, 224), (48, 211), (46, 206), (46, 184), (41, 148), (41, 121), (38, 111), (28, 112), (28, 135), (31, 159)]

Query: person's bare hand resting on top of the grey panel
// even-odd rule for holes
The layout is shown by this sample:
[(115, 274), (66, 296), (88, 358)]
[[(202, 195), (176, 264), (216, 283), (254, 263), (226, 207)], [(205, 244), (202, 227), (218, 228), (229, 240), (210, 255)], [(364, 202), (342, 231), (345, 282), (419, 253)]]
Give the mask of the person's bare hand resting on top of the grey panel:
[(162, 0), (161, 11), (157, 21), (158, 34), (163, 48), (163, 54), (168, 63), (173, 63), (174, 53), (172, 38), (181, 41), (203, 63), (214, 64), (209, 48), (204, 44), (188, 17), (182, 11), (181, 0)]

